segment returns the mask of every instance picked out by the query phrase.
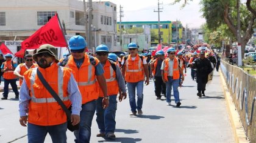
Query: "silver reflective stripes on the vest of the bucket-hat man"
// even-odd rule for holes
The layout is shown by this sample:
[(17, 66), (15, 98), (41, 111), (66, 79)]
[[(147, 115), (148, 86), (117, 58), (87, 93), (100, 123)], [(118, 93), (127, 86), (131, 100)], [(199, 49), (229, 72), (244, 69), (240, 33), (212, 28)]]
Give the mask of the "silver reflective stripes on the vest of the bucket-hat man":
[[(35, 75), (37, 75), (37, 68), (34, 68), (30, 77), (30, 89), (31, 89), (31, 99), (35, 103), (46, 103), (46, 102), (57, 102), (54, 98), (36, 98), (33, 85), (35, 83)], [(63, 70), (61, 67), (58, 67), (58, 95), (62, 101), (68, 101), (68, 96), (63, 97)]]

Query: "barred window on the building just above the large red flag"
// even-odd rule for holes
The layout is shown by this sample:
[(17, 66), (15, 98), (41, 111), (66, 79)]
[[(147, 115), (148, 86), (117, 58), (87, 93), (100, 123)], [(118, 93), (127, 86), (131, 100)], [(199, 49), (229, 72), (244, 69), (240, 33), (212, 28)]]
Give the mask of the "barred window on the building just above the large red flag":
[(37, 25), (46, 24), (56, 12), (37, 12)]

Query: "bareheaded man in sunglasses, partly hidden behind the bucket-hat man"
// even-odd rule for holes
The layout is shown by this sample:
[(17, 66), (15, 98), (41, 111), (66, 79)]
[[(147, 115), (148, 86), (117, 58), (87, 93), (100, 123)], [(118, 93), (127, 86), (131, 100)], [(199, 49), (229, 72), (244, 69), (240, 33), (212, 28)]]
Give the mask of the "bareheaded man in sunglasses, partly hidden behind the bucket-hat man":
[(18, 78), (20, 78), (20, 86), (23, 82), (23, 75), (24, 73), (29, 70), (29, 68), (35, 68), (37, 67), (37, 64), (33, 62), (32, 55), (27, 54), (24, 56), (25, 63), (19, 64), (13, 74), (16, 75)]

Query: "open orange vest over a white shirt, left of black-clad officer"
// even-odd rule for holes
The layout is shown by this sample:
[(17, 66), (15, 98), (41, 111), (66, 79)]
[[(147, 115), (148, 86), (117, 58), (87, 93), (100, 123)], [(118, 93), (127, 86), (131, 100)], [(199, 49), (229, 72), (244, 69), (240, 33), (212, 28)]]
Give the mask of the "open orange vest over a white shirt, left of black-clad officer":
[[(165, 59), (165, 61), (163, 61), (165, 63), (164, 65), (164, 69), (163, 69), (163, 73), (164, 73), (164, 78), (166, 81), (168, 81), (168, 70), (169, 70), (169, 61), (171, 59), (167, 58)], [(177, 58), (173, 59), (173, 73), (172, 73), (172, 79), (179, 79), (180, 78), (180, 71), (179, 71), (179, 60)]]

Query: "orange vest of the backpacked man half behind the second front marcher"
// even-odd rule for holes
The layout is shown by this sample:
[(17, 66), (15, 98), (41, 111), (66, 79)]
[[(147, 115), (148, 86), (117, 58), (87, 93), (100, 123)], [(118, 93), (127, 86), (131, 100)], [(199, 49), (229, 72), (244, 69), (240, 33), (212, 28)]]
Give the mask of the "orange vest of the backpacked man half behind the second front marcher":
[[(116, 62), (115, 62), (116, 65)], [(118, 82), (116, 81), (116, 72), (112, 68), (110, 61), (106, 61), (104, 67), (104, 76), (107, 82), (107, 95), (117, 95), (119, 88), (118, 88)], [(98, 84), (99, 87), (99, 84)], [(101, 87), (99, 87), (99, 97), (104, 97), (103, 92), (101, 90)]]

